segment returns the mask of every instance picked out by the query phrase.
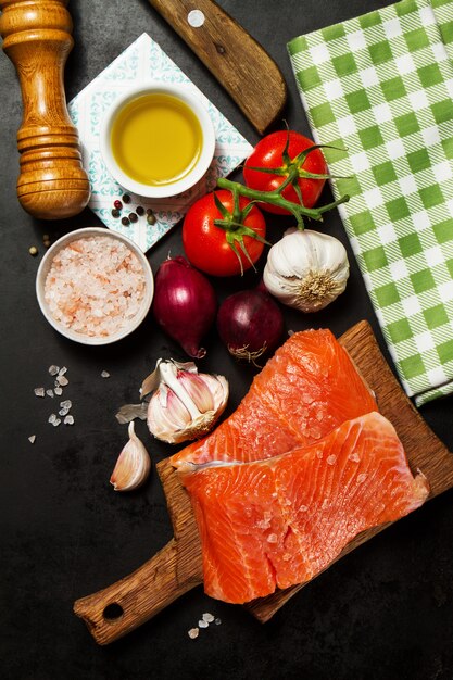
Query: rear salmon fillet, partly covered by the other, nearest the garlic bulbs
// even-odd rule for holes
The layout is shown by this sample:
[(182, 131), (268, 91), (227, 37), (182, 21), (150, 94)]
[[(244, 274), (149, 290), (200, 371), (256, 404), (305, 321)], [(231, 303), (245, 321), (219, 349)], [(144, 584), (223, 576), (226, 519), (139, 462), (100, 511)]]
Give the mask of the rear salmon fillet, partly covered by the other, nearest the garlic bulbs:
[(370, 411), (376, 401), (330, 330), (304, 330), (277, 350), (229, 418), (171, 463), (181, 471), (209, 461), (269, 458)]

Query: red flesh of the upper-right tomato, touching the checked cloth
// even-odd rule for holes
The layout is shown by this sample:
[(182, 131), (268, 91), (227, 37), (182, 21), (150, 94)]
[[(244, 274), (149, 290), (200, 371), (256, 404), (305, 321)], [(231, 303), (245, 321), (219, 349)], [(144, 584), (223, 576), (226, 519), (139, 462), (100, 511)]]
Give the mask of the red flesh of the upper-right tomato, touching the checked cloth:
[[(252, 154), (247, 159), (243, 168), (243, 178), (246, 185), (251, 189), (259, 189), (260, 191), (273, 191), (277, 189), (288, 177), (286, 172), (287, 164), (284, 161), (284, 150), (287, 143), (289, 135), (288, 155), (293, 161), (295, 156), (305, 149), (314, 146), (314, 141), (300, 135), (299, 133), (288, 130), (279, 130), (272, 133), (266, 137), (263, 137), (256, 144)], [(282, 175), (274, 175), (270, 173), (261, 173), (260, 171), (251, 169), (252, 167), (264, 168), (281, 168)], [(326, 161), (319, 149), (311, 151), (306, 156), (304, 163), (301, 165), (301, 169), (309, 173), (316, 173), (325, 175), (327, 173)], [(313, 207), (319, 199), (323, 187), (326, 184), (326, 179), (313, 179), (300, 177), (298, 185), (302, 192), (302, 201), (305, 207)], [(289, 185), (282, 191), (284, 198), (293, 203), (300, 203), (300, 199), (294, 191), (294, 187)], [(260, 204), (261, 207), (269, 213), (277, 213), (279, 215), (287, 215), (288, 211), (277, 205), (270, 205), (268, 203)]]

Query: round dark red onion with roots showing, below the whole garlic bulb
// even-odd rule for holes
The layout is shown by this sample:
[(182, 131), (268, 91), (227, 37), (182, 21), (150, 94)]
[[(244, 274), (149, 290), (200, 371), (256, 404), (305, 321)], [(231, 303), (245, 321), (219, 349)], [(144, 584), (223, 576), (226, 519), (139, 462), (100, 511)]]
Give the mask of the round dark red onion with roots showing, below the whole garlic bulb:
[(255, 363), (259, 356), (277, 348), (284, 316), (268, 293), (242, 290), (222, 303), (217, 329), (232, 356)]

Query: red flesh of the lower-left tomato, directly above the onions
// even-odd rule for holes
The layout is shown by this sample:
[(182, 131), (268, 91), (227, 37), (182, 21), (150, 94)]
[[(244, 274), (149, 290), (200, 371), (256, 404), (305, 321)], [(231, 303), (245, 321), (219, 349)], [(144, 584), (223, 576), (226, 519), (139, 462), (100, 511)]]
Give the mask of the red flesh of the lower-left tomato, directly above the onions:
[[(223, 205), (232, 212), (234, 198), (230, 191), (219, 189), (215, 196)], [(243, 210), (250, 201), (239, 198), (239, 207)], [(241, 228), (230, 227), (228, 232), (214, 224), (214, 219), (223, 219), (221, 211), (215, 204), (214, 193), (207, 193), (199, 199), (189, 209), (183, 225), (183, 245), (190, 263), (197, 268), (211, 274), (212, 276), (232, 276), (240, 274), (243, 269), (249, 269), (263, 252), (264, 243), (257, 239), (243, 234)], [(266, 223), (261, 211), (253, 206), (243, 219), (244, 227), (253, 229), (263, 239), (266, 236)], [(235, 237), (235, 248), (239, 256), (228, 243), (228, 234)], [(251, 262), (240, 248), (240, 241), (249, 253)], [(242, 262), (242, 268), (241, 268)]]

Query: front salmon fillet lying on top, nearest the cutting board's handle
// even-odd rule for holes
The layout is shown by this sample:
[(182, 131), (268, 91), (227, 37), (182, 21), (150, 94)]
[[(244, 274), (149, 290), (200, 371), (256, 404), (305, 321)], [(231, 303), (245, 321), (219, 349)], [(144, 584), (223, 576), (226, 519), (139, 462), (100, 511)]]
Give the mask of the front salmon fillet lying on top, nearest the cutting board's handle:
[(309, 581), (357, 533), (407, 515), (429, 492), (378, 413), (309, 446), (211, 463), (181, 480), (200, 530), (204, 590), (238, 604)]

